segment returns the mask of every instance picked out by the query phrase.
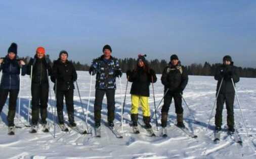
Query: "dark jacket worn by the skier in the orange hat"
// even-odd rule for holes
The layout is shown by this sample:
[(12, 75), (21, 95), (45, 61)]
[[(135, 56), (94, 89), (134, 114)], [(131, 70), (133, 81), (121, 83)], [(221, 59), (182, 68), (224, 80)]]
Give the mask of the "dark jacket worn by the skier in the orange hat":
[[(31, 74), (32, 66), (32, 84), (48, 84), (48, 76), (52, 73), (52, 67), (50, 66), (50, 60), (48, 57), (41, 59), (36, 56), (29, 61), (27, 66), (27, 74)], [(47, 74), (48, 73), (48, 74)]]

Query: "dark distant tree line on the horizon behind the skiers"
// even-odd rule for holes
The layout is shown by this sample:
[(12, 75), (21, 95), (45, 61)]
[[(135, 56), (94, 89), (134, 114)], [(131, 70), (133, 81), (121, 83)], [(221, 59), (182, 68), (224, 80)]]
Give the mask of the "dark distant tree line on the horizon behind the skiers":
[[(126, 72), (128, 69), (134, 69), (137, 64), (137, 59), (135, 58), (124, 58), (119, 59), (119, 64), (123, 72)], [(88, 71), (90, 65), (81, 64), (79, 61), (70, 61), (75, 66), (76, 70)], [(153, 68), (156, 73), (162, 73), (164, 67), (168, 64), (166, 60), (150, 60), (148, 61), (150, 68)], [(216, 68), (221, 65), (221, 63), (210, 64), (208, 62), (204, 62), (204, 64), (193, 63), (191, 65), (185, 66), (189, 75), (210, 75), (213, 76), (215, 74)], [(238, 67), (238, 72), (241, 77), (256, 77), (256, 69), (249, 67)]]

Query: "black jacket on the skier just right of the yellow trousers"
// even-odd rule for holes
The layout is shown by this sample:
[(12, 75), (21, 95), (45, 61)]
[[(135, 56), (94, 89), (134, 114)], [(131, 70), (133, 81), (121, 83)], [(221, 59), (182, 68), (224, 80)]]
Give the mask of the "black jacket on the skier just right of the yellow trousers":
[(165, 90), (168, 88), (170, 92), (183, 92), (188, 84), (188, 74), (180, 61), (175, 66), (169, 62), (162, 72), (161, 82)]

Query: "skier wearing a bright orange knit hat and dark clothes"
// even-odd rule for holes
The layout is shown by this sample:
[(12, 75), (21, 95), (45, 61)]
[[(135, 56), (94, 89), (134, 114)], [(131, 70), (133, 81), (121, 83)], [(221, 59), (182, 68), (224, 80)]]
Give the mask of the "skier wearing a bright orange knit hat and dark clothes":
[(39, 109), (41, 115), (41, 124), (43, 131), (48, 132), (47, 125), (47, 107), (49, 97), (49, 81), (48, 76), (52, 73), (50, 60), (45, 55), (45, 48), (38, 47), (34, 59), (30, 59), (28, 64), (27, 74), (31, 74), (32, 67), (32, 82), (31, 82), (31, 95), (32, 95), (32, 133), (37, 131), (37, 123), (39, 119)]

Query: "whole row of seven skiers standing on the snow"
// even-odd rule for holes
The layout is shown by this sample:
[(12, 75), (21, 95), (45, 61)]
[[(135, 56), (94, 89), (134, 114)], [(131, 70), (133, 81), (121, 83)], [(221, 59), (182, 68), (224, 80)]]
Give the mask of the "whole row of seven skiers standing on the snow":
[[(104, 95), (107, 97), (107, 121), (108, 126), (114, 129), (115, 119), (115, 90), (116, 77), (121, 77), (122, 71), (119, 62), (114, 58), (112, 49), (109, 45), (103, 47), (103, 55), (94, 59), (89, 69), (91, 75), (96, 74), (95, 85), (95, 102), (94, 102), (94, 121), (96, 136), (100, 137), (101, 127), (101, 110)], [(0, 59), (2, 80), (0, 85), (0, 113), (6, 103), (8, 94), (9, 112), (8, 126), (9, 134), (14, 134), (14, 117), (16, 112), (16, 100), (20, 89), (19, 75), (30, 75), (31, 80), (31, 104), (32, 119), (31, 131), (37, 132), (39, 113), (41, 116), (41, 124), (45, 132), (49, 131), (47, 124), (47, 107), (49, 98), (49, 76), (51, 81), (55, 83), (54, 91), (57, 100), (57, 116), (59, 126), (62, 131), (68, 131), (65, 127), (63, 118), (63, 100), (65, 97), (68, 121), (70, 127), (76, 127), (74, 121), (74, 104), (73, 91), (74, 82), (77, 80), (76, 70), (71, 62), (68, 61), (68, 53), (63, 50), (59, 54), (59, 58), (54, 61), (53, 66), (50, 65), (50, 59), (46, 56), (45, 49), (38, 47), (34, 58), (27, 63), (19, 59), (17, 56), (17, 45), (13, 43), (8, 49), (6, 57)], [(20, 72), (21, 71), (21, 72)], [(140, 133), (138, 129), (138, 108), (142, 107), (143, 121), (145, 129), (153, 136), (153, 130), (150, 124), (151, 114), (149, 106), (149, 87), (157, 81), (155, 71), (149, 67), (146, 55), (139, 54), (135, 69), (126, 71), (127, 81), (132, 83), (131, 87), (131, 126), (134, 133)], [(226, 102), (227, 107), (227, 125), (230, 132), (234, 132), (234, 97), (235, 86), (233, 84), (239, 82), (239, 74), (236, 66), (229, 55), (223, 58), (223, 64), (216, 69), (215, 80), (217, 85), (217, 109), (215, 115), (215, 129), (221, 130), (223, 106)], [(164, 68), (161, 76), (161, 83), (164, 86), (163, 105), (161, 108), (161, 127), (162, 136), (167, 136), (166, 126), (170, 104), (172, 99), (175, 103), (175, 113), (177, 114), (177, 126), (185, 129), (183, 122), (182, 95), (188, 84), (188, 74), (184, 66), (181, 65), (179, 57), (175, 54), (170, 56), (170, 62)]]

